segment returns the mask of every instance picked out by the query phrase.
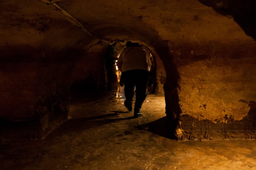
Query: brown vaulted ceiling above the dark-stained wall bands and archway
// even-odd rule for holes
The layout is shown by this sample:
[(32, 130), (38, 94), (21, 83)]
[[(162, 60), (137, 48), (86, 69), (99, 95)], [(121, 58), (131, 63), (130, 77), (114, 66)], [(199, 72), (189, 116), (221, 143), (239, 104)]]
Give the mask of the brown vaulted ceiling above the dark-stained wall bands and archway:
[[(255, 23), (245, 26), (242, 23), (246, 22), (242, 19), (248, 14), (235, 10), (238, 6), (250, 6), (253, 1), (248, 3), (247, 0), (243, 4), (227, 3), (228, 0), (209, 2), (207, 0), (1, 0), (0, 46), (27, 44), (35, 47), (40, 45), (64, 47), (70, 43), (76, 46), (79, 43), (84, 45), (95, 40), (49, 3), (57, 4), (81, 23), (90, 34), (107, 41), (129, 39), (150, 44), (157, 41), (158, 37), (176, 43), (253, 41), (251, 37), (255, 38), (255, 35), (251, 30), (255, 29)], [(247, 13), (250, 14), (253, 8), (255, 7), (250, 7)], [(219, 9), (222, 11), (225, 9), (226, 13), (220, 14)], [(241, 17), (237, 19), (238, 16)], [(249, 21), (253, 22), (253, 17), (250, 17)], [(250, 26), (252, 27), (248, 28)], [(251, 37), (247, 36), (243, 29), (247, 30), (246, 33)]]

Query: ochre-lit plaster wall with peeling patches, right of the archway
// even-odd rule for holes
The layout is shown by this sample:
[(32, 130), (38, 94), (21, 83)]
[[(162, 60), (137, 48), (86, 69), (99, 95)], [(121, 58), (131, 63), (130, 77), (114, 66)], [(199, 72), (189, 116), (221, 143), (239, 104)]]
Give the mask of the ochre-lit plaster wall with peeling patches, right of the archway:
[(180, 74), (180, 140), (255, 139), (255, 42), (170, 45)]

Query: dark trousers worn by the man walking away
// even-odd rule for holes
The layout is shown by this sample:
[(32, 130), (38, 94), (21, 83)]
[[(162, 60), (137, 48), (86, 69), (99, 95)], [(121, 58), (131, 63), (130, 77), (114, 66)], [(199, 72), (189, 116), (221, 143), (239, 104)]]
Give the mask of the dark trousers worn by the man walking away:
[(134, 87), (136, 86), (136, 99), (134, 112), (138, 113), (146, 99), (146, 91), (149, 79), (149, 71), (143, 69), (134, 69), (122, 72), (125, 85), (125, 103), (132, 104), (134, 96)]

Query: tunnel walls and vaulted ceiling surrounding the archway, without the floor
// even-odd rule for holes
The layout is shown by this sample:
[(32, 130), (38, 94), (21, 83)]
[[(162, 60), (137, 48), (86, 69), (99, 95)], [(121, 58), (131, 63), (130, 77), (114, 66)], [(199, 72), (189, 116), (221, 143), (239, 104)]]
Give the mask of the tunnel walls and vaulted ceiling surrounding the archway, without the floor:
[(68, 121), (70, 88), (104, 93), (105, 50), (128, 40), (154, 56), (154, 95), (165, 96), (177, 140), (255, 139), (255, 7), (1, 1), (1, 140), (42, 139)]

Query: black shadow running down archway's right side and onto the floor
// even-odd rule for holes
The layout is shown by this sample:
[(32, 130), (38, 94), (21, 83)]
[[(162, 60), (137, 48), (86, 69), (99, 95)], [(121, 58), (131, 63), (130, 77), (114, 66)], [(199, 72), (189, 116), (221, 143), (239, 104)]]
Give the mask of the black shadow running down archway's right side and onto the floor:
[(181, 113), (178, 94), (178, 89), (180, 89), (180, 74), (177, 66), (173, 62), (173, 56), (169, 52), (167, 42), (163, 42), (162, 46), (155, 50), (162, 60), (166, 71), (166, 79), (161, 82), (164, 84), (163, 89), (166, 101), (166, 117), (150, 123), (149, 126), (151, 131), (154, 133), (159, 133), (161, 136), (165, 136), (170, 139), (177, 139), (174, 134), (175, 127), (177, 127)]

